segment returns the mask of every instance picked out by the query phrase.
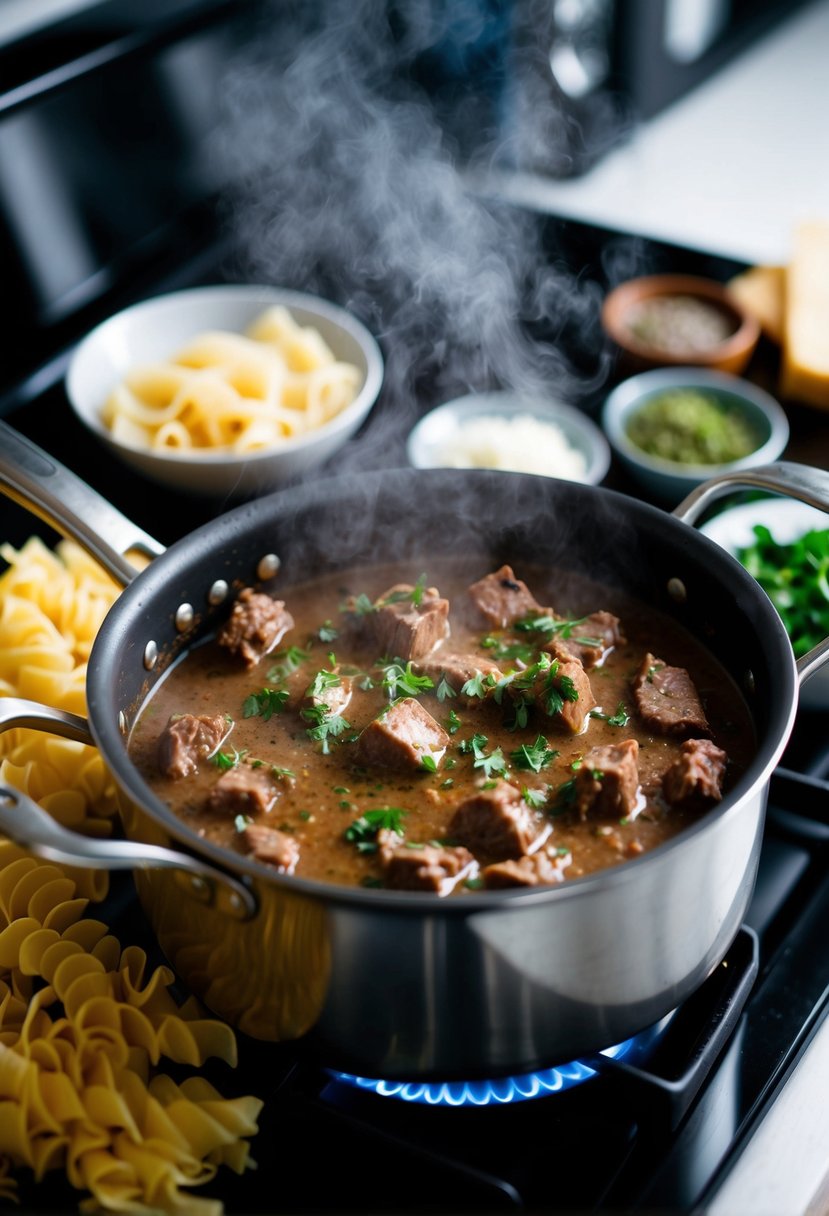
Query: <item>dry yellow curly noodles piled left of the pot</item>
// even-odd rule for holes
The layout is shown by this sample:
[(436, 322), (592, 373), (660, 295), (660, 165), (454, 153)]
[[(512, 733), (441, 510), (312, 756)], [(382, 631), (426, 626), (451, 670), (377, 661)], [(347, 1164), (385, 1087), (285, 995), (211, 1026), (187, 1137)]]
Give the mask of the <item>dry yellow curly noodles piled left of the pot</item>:
[[(118, 587), (68, 541), (0, 553), (0, 696), (83, 713), (86, 658)], [(61, 822), (111, 831), (114, 792), (94, 748), (16, 730), (0, 758), (0, 777)], [(193, 998), (176, 1004), (173, 973), (147, 975), (143, 951), (86, 914), (103, 894), (106, 874), (0, 841), (0, 1199), (15, 1199), (21, 1167), (38, 1182), (62, 1169), (90, 1195), (81, 1211), (218, 1216), (218, 1201), (182, 1188), (253, 1164), (261, 1103), (156, 1073), (164, 1058), (232, 1065), (236, 1038)]]

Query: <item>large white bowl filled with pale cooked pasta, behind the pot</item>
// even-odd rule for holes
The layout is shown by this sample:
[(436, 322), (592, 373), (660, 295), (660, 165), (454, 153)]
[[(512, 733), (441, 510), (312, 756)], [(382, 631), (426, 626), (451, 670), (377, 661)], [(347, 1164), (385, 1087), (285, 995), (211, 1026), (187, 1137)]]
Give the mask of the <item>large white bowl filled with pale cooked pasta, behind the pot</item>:
[(322, 465), (383, 383), (368, 330), (301, 292), (218, 285), (124, 309), (91, 331), (66, 389), (125, 463), (205, 495), (253, 496)]

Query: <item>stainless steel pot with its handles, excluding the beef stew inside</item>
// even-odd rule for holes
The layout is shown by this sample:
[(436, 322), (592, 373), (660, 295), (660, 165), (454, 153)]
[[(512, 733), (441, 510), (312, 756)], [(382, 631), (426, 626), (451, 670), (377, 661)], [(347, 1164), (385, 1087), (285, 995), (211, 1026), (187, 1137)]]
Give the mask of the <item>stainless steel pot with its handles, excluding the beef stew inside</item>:
[[(720, 963), (754, 888), (772, 770), (799, 683), (783, 625), (739, 563), (692, 527), (737, 486), (829, 508), (829, 474), (773, 465), (722, 477), (670, 516), (594, 486), (501, 472), (390, 469), (246, 503), (169, 550), (51, 457), (0, 424), (0, 479), (84, 544), (125, 590), (89, 663), (89, 726), (6, 698), (0, 728), (94, 742), (119, 790), (126, 840), (60, 828), (0, 788), (0, 828), (34, 852), (130, 867), (182, 980), (242, 1031), (301, 1040), (331, 1066), (389, 1079), (498, 1076), (620, 1042), (656, 1021)], [(94, 523), (90, 523), (94, 522)], [(124, 554), (153, 556), (136, 574)], [(576, 568), (660, 607), (703, 637), (743, 688), (754, 762), (671, 843), (554, 889), (462, 899), (327, 886), (202, 840), (130, 762), (136, 713), (169, 663), (215, 627), (246, 585), (275, 590), (356, 562), (480, 552)]]

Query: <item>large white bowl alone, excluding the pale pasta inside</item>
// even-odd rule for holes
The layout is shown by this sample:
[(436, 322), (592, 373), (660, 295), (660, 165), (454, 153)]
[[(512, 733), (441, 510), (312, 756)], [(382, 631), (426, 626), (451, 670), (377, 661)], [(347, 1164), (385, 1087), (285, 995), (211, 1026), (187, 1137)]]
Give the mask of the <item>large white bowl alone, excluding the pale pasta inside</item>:
[[(316, 430), (280, 446), (243, 455), (226, 451), (130, 447), (113, 439), (101, 410), (124, 376), (169, 359), (210, 330), (242, 333), (266, 308), (282, 304), (303, 326), (314, 326), (337, 359), (355, 364), (355, 400)], [(173, 292), (134, 304), (98, 325), (75, 349), (67, 372), (69, 404), (102, 444), (141, 473), (194, 494), (252, 496), (322, 465), (356, 432), (383, 383), (383, 356), (368, 330), (327, 300), (276, 287), (227, 285)]]

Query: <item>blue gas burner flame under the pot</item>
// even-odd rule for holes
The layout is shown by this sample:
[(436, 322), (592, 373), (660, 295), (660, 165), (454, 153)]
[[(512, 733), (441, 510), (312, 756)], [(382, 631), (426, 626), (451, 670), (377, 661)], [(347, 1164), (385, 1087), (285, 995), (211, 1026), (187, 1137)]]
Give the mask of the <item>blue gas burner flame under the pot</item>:
[[(607, 1047), (602, 1055), (620, 1059), (632, 1051), (637, 1042), (638, 1037), (627, 1038), (615, 1047)], [(574, 1060), (573, 1064), (562, 1064), (540, 1073), (524, 1073), (520, 1076), (504, 1076), (495, 1081), (377, 1081), (366, 1076), (354, 1076), (351, 1073), (333, 1071), (331, 1076), (359, 1090), (378, 1093), (384, 1098), (399, 1098), (402, 1102), (419, 1102), (429, 1107), (489, 1107), (563, 1093), (583, 1081), (590, 1081), (596, 1076), (596, 1069), (581, 1060)]]

